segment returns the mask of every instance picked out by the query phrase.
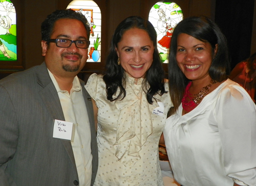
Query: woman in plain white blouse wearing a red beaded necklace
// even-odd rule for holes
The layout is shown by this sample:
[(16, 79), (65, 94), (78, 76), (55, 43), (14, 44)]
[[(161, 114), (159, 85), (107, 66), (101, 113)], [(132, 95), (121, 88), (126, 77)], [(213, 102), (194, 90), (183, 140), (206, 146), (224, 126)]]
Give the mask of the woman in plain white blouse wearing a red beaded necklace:
[(227, 79), (229, 55), (217, 24), (202, 16), (176, 26), (168, 79), (174, 103), (164, 140), (181, 185), (255, 185), (256, 106)]

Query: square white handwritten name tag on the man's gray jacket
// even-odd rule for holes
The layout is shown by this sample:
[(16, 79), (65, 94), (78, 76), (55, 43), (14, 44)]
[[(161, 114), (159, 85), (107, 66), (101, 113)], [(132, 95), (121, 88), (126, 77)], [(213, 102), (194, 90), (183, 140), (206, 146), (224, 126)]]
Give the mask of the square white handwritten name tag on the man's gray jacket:
[(73, 142), (75, 136), (75, 125), (74, 123), (54, 120), (53, 124), (53, 138), (58, 138), (62, 140), (68, 140)]

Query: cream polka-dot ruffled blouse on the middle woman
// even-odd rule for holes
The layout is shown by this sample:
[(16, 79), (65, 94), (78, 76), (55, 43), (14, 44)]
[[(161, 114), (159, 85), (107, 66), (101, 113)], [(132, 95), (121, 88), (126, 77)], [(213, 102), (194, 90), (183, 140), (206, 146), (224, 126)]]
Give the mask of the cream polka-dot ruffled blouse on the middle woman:
[(163, 185), (158, 144), (172, 104), (169, 93), (156, 95), (158, 100), (149, 104), (142, 81), (135, 85), (134, 78), (126, 75), (126, 96), (111, 102), (106, 99), (102, 76), (92, 74), (88, 79), (86, 89), (98, 107), (96, 186)]

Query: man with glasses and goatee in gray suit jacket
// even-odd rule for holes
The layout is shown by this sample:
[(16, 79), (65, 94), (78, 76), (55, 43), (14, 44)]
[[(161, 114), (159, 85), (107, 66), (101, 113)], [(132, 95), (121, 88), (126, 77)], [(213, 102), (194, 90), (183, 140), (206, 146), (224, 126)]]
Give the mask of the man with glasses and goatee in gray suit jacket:
[(89, 36), (86, 17), (57, 10), (41, 24), (45, 62), (1, 79), (0, 186), (93, 185), (93, 106), (76, 76)]

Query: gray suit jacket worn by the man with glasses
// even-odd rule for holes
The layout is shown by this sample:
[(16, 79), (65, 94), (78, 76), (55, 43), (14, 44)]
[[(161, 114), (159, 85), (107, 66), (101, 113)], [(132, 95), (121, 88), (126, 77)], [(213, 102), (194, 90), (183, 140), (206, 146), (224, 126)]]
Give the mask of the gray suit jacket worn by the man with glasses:
[[(81, 85), (91, 124), (93, 185), (98, 168), (93, 106)], [(54, 119), (65, 120), (45, 63), (0, 80), (0, 186), (78, 185), (71, 143), (52, 138)]]

